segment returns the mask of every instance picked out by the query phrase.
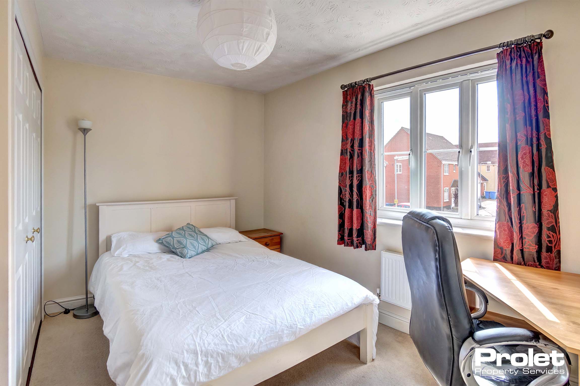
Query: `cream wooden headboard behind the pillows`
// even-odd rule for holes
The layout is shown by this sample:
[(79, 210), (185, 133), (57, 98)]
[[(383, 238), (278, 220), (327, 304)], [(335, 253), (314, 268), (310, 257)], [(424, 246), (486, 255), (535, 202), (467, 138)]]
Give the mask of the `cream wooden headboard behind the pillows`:
[(111, 234), (117, 232), (172, 231), (187, 223), (200, 228), (235, 229), (236, 198), (97, 203), (99, 255), (111, 250)]

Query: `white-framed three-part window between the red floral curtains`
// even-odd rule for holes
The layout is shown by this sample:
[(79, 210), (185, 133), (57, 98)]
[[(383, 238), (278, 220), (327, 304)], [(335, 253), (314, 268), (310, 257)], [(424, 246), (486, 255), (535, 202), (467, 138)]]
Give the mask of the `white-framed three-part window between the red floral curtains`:
[(377, 176), (378, 215), (402, 218), (409, 208), (427, 208), (443, 212), (454, 225), (492, 229), (497, 168), (491, 166), (498, 153), (495, 68), (377, 90), (375, 97), (377, 147), (383, 150), (377, 152), (383, 161)]

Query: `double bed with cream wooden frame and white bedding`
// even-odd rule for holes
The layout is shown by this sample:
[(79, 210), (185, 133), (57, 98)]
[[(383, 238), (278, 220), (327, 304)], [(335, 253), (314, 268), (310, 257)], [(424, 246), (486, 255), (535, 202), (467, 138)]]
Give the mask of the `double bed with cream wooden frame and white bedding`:
[(191, 259), (111, 255), (110, 235), (121, 231), (235, 229), (235, 197), (97, 205), (89, 290), (118, 385), (254, 385), (347, 338), (362, 362), (374, 358), (375, 295), (249, 238)]

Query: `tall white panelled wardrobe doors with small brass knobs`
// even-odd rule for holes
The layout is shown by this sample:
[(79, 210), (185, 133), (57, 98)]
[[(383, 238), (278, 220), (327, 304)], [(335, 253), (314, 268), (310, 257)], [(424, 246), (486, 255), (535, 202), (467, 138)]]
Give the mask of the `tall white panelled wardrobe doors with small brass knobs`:
[[(13, 28), (13, 264), (10, 381), (26, 384), (41, 321), (41, 90), (16, 23)], [(34, 231), (33, 229), (38, 230)], [(34, 237), (34, 241), (26, 240)]]

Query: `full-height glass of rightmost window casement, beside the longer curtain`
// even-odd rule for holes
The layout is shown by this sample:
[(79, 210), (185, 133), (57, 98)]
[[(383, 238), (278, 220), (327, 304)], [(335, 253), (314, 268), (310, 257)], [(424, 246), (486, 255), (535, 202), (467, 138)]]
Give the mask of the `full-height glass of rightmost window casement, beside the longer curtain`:
[[(477, 214), (496, 214), (498, 97), (494, 81), (477, 84)], [(484, 150), (484, 148), (492, 148)]]

